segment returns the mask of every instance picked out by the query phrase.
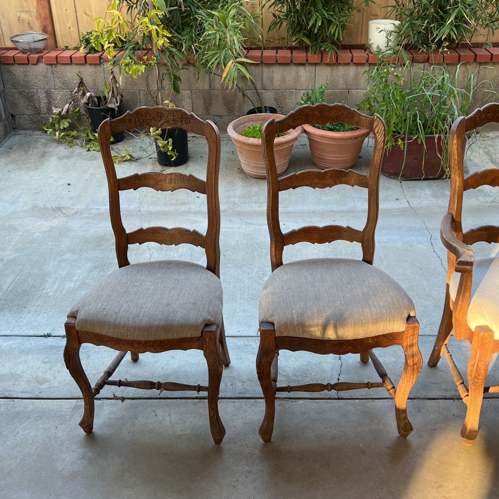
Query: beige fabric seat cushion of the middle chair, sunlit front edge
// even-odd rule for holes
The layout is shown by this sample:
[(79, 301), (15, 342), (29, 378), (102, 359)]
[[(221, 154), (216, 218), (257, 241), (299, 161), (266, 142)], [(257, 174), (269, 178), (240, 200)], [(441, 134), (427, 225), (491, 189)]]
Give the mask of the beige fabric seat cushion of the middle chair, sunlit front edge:
[(388, 274), (361, 260), (316, 258), (272, 272), (260, 298), (260, 322), (276, 336), (345, 340), (403, 331), (414, 303)]

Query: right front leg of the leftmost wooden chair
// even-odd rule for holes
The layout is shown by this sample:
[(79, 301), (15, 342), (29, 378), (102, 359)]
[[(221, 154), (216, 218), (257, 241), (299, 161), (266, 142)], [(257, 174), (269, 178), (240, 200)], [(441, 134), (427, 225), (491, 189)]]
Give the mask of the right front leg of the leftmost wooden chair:
[(220, 419), (218, 400), (222, 381), (221, 345), (217, 338), (217, 326), (209, 325), (203, 329), (203, 353), (208, 364), (208, 413), (213, 441), (219, 445), (224, 440), (225, 428)]

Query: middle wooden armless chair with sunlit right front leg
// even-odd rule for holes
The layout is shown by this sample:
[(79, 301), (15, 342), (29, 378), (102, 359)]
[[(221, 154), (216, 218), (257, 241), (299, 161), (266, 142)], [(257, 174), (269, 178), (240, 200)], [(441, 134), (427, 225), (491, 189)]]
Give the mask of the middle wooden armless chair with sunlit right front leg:
[[(306, 170), (277, 179), (273, 141), (276, 133), (305, 123), (325, 125), (345, 122), (372, 130), (374, 150), (369, 175), (353, 170)], [(386, 126), (379, 116), (369, 117), (348, 106), (301, 106), (279, 120), (267, 121), (262, 149), (267, 170), (267, 224), (270, 233), (272, 274), (266, 281), (259, 305), (260, 346), (256, 358), (258, 380), (265, 398), (265, 415), (258, 434), (270, 442), (276, 392), (321, 392), (381, 388), (395, 399), (398, 432), (406, 438), (413, 430), (407, 418), (407, 397), (423, 363), (418, 347), (419, 323), (414, 304), (403, 288), (372, 265), (374, 232), (378, 221), (379, 176)], [(367, 223), (362, 231), (328, 225), (301, 227), (286, 233), (279, 225), (279, 192), (298, 187), (324, 189), (339, 184), (368, 190)], [(362, 245), (362, 260), (316, 258), (282, 262), (284, 246), (299, 242), (331, 243), (346, 240)], [(373, 348), (401, 345), (405, 365), (397, 388), (388, 377)], [(279, 350), (305, 350), (318, 354), (360, 353), (371, 358), (381, 383), (314, 383), (277, 386)]]

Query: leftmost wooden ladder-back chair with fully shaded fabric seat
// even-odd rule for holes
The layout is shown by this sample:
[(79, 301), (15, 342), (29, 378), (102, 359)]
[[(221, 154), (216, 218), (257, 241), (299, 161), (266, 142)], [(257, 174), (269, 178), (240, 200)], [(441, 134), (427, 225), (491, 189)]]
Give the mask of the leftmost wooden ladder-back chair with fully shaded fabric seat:
[[(182, 173), (141, 173), (117, 178), (110, 151), (113, 133), (136, 127), (179, 126), (206, 137), (208, 168), (206, 182)], [(220, 133), (211, 121), (203, 121), (183, 109), (140, 107), (99, 127), (99, 144), (109, 187), (111, 225), (116, 241), (119, 268), (90, 289), (71, 308), (65, 323), (64, 361), (80, 387), (85, 410), (80, 426), (91, 433), (94, 397), (105, 385), (130, 386), (145, 390), (195, 390), (208, 392), (208, 410), (213, 440), (220, 444), (225, 435), (219, 416), (218, 396), (222, 364), (230, 364), (222, 316), (220, 282), (220, 206), (218, 180)], [(150, 187), (156, 191), (189, 189), (206, 194), (208, 229), (206, 235), (184, 228), (140, 228), (126, 232), (120, 212), (119, 192)], [(206, 251), (206, 268), (180, 260), (136, 263), (128, 261), (128, 245), (154, 242), (160, 245), (191, 244)], [(95, 386), (90, 386), (80, 363), (82, 343), (104, 345), (120, 353)], [(133, 361), (142, 352), (203, 350), (208, 364), (208, 386), (123, 381), (109, 379), (126, 352)]]

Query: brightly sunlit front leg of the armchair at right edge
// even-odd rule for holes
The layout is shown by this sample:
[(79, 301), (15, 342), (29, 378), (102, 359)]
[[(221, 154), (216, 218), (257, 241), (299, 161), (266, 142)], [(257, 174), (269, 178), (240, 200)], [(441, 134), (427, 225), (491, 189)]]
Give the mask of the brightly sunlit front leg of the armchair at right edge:
[(478, 434), (480, 409), (484, 398), (485, 379), (494, 350), (494, 332), (488, 326), (478, 326), (473, 334), (468, 362), (468, 412), (461, 429), (463, 443), (471, 447)]

